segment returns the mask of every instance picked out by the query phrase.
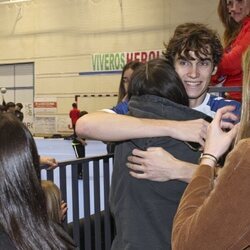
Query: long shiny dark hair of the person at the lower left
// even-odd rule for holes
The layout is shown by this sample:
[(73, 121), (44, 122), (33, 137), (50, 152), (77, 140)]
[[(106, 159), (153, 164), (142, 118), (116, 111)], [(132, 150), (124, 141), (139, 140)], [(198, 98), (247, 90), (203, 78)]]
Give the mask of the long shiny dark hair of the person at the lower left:
[(68, 249), (48, 219), (32, 135), (5, 113), (0, 114), (0, 141), (0, 226), (17, 249)]

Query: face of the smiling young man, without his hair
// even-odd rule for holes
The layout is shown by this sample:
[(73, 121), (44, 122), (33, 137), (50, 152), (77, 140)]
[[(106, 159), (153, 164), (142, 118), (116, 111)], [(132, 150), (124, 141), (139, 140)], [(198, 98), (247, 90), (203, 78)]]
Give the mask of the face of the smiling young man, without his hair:
[(217, 68), (214, 69), (211, 55), (202, 56), (202, 59), (199, 59), (193, 51), (189, 54), (192, 60), (184, 55), (176, 56), (174, 67), (187, 91), (190, 107), (196, 107), (203, 102), (211, 75), (216, 72)]

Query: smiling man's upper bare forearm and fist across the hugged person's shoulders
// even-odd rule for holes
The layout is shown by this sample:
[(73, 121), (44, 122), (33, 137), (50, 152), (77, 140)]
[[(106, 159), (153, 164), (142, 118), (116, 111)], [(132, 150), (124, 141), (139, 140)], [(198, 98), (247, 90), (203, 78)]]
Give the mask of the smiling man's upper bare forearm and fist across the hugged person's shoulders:
[(80, 137), (102, 141), (171, 136), (203, 145), (207, 126), (208, 122), (203, 119), (154, 120), (99, 111), (79, 118), (76, 123), (76, 132)]

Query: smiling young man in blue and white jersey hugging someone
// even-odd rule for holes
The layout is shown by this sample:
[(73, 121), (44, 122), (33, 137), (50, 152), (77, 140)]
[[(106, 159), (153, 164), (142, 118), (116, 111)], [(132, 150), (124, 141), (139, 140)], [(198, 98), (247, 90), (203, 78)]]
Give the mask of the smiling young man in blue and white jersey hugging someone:
[[(233, 105), (234, 112), (240, 114), (240, 103), (208, 93), (211, 76), (216, 72), (223, 51), (215, 31), (203, 24), (185, 23), (176, 28), (165, 46), (164, 56), (174, 65), (181, 78), (191, 108), (214, 117), (219, 108)], [(183, 122), (96, 112), (80, 118), (76, 131), (85, 138), (104, 141), (171, 136), (203, 145), (207, 125), (202, 119)], [(129, 161), (128, 167), (133, 170), (132, 176), (155, 181), (189, 181), (197, 166), (175, 159), (162, 148), (148, 148), (146, 151), (135, 149)]]

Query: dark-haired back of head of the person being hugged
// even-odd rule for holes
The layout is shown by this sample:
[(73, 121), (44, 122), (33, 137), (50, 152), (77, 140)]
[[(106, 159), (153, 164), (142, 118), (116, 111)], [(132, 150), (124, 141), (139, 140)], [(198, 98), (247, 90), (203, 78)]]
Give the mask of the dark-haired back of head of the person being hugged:
[(153, 59), (137, 68), (131, 77), (129, 96), (156, 95), (188, 106), (186, 90), (173, 66)]

